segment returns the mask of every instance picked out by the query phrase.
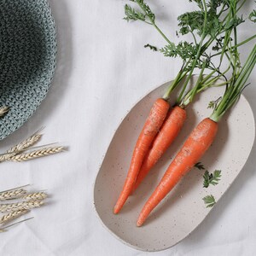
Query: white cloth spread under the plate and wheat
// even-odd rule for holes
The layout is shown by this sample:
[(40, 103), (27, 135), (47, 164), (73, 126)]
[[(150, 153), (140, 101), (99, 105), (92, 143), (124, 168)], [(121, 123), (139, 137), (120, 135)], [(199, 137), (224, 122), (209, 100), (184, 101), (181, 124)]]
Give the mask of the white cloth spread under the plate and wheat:
[[(191, 3), (148, 2), (162, 29), (172, 40), (179, 40), (176, 18)], [(247, 2), (245, 13), (253, 9), (253, 1)], [(165, 42), (153, 27), (122, 20), (126, 1), (49, 3), (58, 33), (55, 79), (38, 111), (0, 142), (0, 149), (45, 125), (41, 143), (58, 142), (68, 145), (69, 151), (20, 164), (1, 164), (0, 190), (30, 183), (33, 189), (47, 189), (51, 197), (46, 207), (30, 213), (35, 218), (0, 235), (0, 254), (150, 254), (125, 246), (102, 227), (93, 206), (93, 184), (120, 120), (148, 91), (173, 79), (179, 65), (143, 48), (144, 44), (162, 46)], [(243, 26), (241, 38), (253, 29), (253, 25)], [(256, 113), (255, 71), (244, 94)], [(255, 153), (253, 148), (235, 183), (189, 237), (152, 255), (255, 255)]]

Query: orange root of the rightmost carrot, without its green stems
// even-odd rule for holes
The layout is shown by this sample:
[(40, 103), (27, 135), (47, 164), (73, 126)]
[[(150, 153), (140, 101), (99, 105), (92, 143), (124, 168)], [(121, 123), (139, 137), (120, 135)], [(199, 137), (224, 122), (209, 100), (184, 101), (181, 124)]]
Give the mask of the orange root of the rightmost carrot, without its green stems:
[(162, 177), (159, 185), (149, 197), (143, 207), (142, 212), (137, 219), (137, 226), (141, 226), (149, 213), (156, 207), (160, 201), (173, 189), (180, 179), (189, 170), (195, 166), (195, 163), (201, 159), (214, 140), (218, 131), (218, 123), (212, 119), (203, 119), (197, 125), (183, 144), (183, 147), (177, 153), (171, 165), (168, 167), (164, 177)]

